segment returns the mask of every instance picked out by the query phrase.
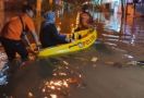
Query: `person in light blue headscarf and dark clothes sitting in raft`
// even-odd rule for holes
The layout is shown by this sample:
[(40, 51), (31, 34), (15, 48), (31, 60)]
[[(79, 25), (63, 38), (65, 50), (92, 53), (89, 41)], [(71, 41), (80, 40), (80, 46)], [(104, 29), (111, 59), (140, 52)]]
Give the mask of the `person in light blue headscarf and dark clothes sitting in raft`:
[(60, 44), (67, 44), (67, 36), (60, 35), (58, 33), (58, 29), (56, 27), (56, 17), (55, 12), (46, 12), (44, 14), (45, 21), (41, 23), (40, 27), (40, 34), (39, 34), (39, 40), (41, 42), (43, 48), (60, 45)]

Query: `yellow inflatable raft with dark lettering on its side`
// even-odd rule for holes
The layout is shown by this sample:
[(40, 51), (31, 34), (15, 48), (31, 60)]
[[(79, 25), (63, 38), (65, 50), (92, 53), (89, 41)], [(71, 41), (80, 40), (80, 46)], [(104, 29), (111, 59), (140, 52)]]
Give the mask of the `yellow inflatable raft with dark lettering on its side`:
[(95, 29), (89, 28), (89, 29), (85, 29), (85, 30), (75, 32), (73, 34), (68, 34), (67, 36), (69, 38), (71, 38), (73, 36), (74, 41), (72, 41), (70, 44), (63, 44), (63, 45), (41, 49), (38, 52), (37, 57), (46, 58), (46, 57), (50, 57), (50, 56), (74, 52), (77, 50), (88, 48), (91, 45), (93, 45), (95, 42), (95, 40), (97, 38), (97, 33)]

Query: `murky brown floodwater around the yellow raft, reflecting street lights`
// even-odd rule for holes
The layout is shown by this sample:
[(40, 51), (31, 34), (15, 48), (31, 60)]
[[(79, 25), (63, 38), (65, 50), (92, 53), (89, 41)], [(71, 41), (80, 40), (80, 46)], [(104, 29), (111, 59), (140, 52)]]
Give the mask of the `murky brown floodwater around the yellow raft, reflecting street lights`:
[[(75, 16), (59, 17), (62, 33), (71, 32)], [(123, 22), (109, 13), (94, 19), (98, 40), (91, 48), (20, 68), (0, 87), (0, 98), (143, 98), (144, 68), (129, 62), (144, 60), (144, 19), (128, 15)]]

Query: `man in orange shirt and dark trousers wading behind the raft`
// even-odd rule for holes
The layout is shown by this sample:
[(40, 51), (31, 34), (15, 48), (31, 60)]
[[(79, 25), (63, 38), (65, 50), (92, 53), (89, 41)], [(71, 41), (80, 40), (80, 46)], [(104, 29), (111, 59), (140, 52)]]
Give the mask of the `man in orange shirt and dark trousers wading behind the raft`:
[(15, 59), (16, 52), (21, 56), (23, 62), (28, 60), (28, 51), (22, 41), (22, 33), (24, 28), (26, 29), (26, 33), (32, 33), (36, 45), (40, 45), (36, 35), (35, 25), (32, 19), (33, 16), (33, 8), (29, 5), (23, 5), (22, 13), (17, 16), (11, 17), (3, 26), (0, 33), (0, 39), (10, 62)]

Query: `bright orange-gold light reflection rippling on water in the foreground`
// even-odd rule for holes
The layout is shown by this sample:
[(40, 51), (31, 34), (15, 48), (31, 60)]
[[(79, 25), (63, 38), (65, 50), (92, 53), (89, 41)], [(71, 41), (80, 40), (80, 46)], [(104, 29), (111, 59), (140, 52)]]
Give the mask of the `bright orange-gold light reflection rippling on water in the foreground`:
[(70, 96), (72, 85), (81, 84), (82, 75), (79, 71), (63, 63), (53, 70), (51, 79), (45, 79), (40, 84), (39, 89), (43, 98), (65, 98)]

